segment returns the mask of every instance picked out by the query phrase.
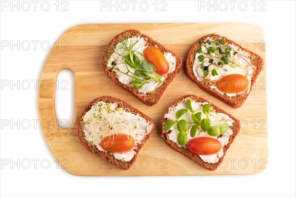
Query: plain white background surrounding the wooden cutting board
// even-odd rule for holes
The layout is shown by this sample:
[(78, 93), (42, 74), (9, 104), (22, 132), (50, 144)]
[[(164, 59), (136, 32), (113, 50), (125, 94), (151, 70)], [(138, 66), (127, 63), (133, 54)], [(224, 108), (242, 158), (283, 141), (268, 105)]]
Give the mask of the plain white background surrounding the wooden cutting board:
[[(2, 1), (3, 2), (3, 1)], [(1, 3), (2, 3), (1, 2)], [(10, 3), (10, 1), (7, 1)], [(16, 1), (15, 1), (16, 2)], [(22, 1), (20, 1), (21, 3)], [(42, 2), (42, 1), (40, 1)], [(229, 1), (226, 11), (215, 11), (215, 7), (198, 7), (194, 1), (166, 1), (167, 11), (155, 11), (153, 1), (144, 12), (136, 4), (135, 11), (112, 11), (109, 7), (100, 11), (99, 1), (68, 0), (68, 11), (62, 12), (61, 1), (56, 11), (54, 1), (50, 1), (49, 11), (43, 11), (37, 4), (31, 10), (20, 11), (1, 7), (1, 41), (38, 40), (37, 49), (31, 45), (1, 48), (1, 85), (10, 80), (38, 80), (50, 50), (40, 47), (41, 41), (49, 41), (51, 46), (68, 28), (85, 23), (150, 23), (150, 22), (251, 22), (259, 24), (266, 40), (267, 101), (269, 162), (267, 168), (254, 175), (225, 176), (139, 176), (139, 177), (83, 177), (75, 176), (63, 169), (57, 169), (55, 157), (48, 147), (40, 127), (34, 128), (32, 119), (38, 119), (37, 98), (31, 82), (29, 90), (17, 86), (1, 87), (0, 95), (0, 195), (1, 196), (296, 196), (295, 177), (295, 1), (263, 1), (265, 11), (259, 11), (263, 4), (246, 1), (248, 8), (241, 11), (238, 2), (233, 11)], [(129, 2), (129, 1), (128, 1)], [(140, 2), (140, 1), (139, 1)], [(209, 3), (208, 1), (204, 1)], [(16, 2), (17, 3), (17, 2)], [(109, 3), (109, 1), (107, 1)], [(158, 2), (159, 3), (159, 2)], [(214, 1), (211, 1), (214, 4)], [(219, 1), (216, 2), (217, 5)], [(6, 5), (6, 4), (5, 4)], [(66, 4), (63, 4), (64, 6)], [(23, 9), (27, 6), (23, 4)], [(132, 4), (130, 3), (130, 6)], [(221, 4), (222, 6), (222, 4)], [(46, 6), (44, 5), (46, 8)], [(125, 8), (125, 7), (123, 7)], [(145, 7), (144, 7), (145, 8)], [(220, 7), (224, 9), (223, 7)], [(244, 6), (241, 5), (241, 9)], [(235, 26), (233, 26), (235, 31)], [(3, 44), (3, 43), (2, 43)], [(44, 45), (45, 46), (45, 45)], [(3, 47), (1, 45), (1, 47)], [(27, 47), (25, 47), (27, 48)], [(46, 46), (45, 46), (46, 48)], [(23, 84), (25, 85), (25, 84)], [(70, 84), (71, 85), (71, 84)], [(27, 85), (26, 85), (27, 87)], [(38, 84), (37, 84), (38, 87)], [(71, 86), (70, 86), (71, 88)], [(11, 90), (12, 89), (12, 90)], [(71, 112), (71, 110), (69, 110)], [(3, 124), (2, 120), (30, 120), (27, 125)], [(24, 123), (25, 124), (25, 123)], [(37, 124), (38, 125), (38, 124)], [(12, 129), (10, 128), (12, 127)], [(31, 161), (28, 169), (5, 162)], [(36, 169), (32, 159), (37, 161)], [(50, 167), (41, 167), (40, 160), (50, 161)], [(27, 163), (23, 163), (27, 165)], [(44, 163), (46, 165), (46, 163)], [(83, 164), (81, 164), (83, 165)]]

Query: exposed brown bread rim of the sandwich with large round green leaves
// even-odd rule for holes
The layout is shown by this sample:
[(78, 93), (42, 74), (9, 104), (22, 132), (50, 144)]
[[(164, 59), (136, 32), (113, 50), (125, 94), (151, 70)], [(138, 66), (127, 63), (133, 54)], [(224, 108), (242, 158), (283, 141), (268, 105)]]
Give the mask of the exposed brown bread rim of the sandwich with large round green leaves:
[[(172, 106), (176, 106), (178, 105), (180, 102), (186, 102), (187, 99), (191, 99), (191, 100), (194, 100), (196, 102), (208, 102), (209, 104), (211, 104), (212, 106), (212, 110), (215, 110), (217, 113), (223, 113), (227, 116), (229, 116), (229, 118), (231, 118), (234, 122), (232, 124), (232, 126), (230, 126), (229, 128), (232, 129), (233, 131), (233, 134), (229, 136), (229, 141), (226, 145), (223, 146), (223, 156), (221, 158), (219, 158), (219, 161), (215, 164), (213, 163), (207, 163), (207, 162), (204, 162), (200, 157), (199, 155), (197, 154), (194, 154), (194, 153), (191, 153), (187, 148), (183, 147), (183, 146), (178, 146), (177, 143), (171, 141), (168, 137), (168, 134), (170, 132), (169, 131), (164, 131), (164, 124), (168, 121), (167, 118), (164, 118), (163, 116), (163, 119), (161, 120), (161, 123), (162, 123), (162, 138), (165, 140), (165, 142), (174, 150), (182, 153), (183, 155), (185, 155), (186, 157), (190, 158), (191, 160), (193, 160), (194, 162), (196, 162), (197, 164), (200, 164), (201, 166), (203, 166), (204, 168), (208, 169), (208, 170), (215, 170), (219, 167), (219, 165), (222, 163), (222, 160), (226, 154), (226, 151), (228, 150), (228, 148), (230, 147), (231, 143), (233, 142), (234, 138), (236, 137), (236, 135), (238, 134), (239, 130), (240, 130), (240, 122), (239, 120), (237, 120), (236, 118), (234, 118), (232, 115), (230, 115), (229, 113), (227, 113), (226, 111), (224, 111), (223, 109), (217, 107), (216, 105), (214, 105), (213, 103), (211, 103), (210, 101), (206, 100), (206, 99), (203, 99), (203, 98), (200, 98), (200, 97), (197, 97), (195, 95), (185, 95), (179, 99), (177, 99), (175, 102), (173, 102), (171, 104), (170, 107)], [(169, 107), (169, 108), (170, 108)], [(165, 112), (165, 114), (167, 114), (169, 112), (169, 108), (168, 110)]]

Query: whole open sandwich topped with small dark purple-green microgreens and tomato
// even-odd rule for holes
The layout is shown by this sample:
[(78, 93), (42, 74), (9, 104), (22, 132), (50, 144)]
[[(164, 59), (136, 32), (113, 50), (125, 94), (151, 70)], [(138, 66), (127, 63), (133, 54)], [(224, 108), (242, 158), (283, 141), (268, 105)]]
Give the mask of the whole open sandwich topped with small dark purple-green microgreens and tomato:
[(217, 34), (199, 38), (186, 59), (188, 77), (233, 108), (246, 101), (262, 68), (259, 55)]

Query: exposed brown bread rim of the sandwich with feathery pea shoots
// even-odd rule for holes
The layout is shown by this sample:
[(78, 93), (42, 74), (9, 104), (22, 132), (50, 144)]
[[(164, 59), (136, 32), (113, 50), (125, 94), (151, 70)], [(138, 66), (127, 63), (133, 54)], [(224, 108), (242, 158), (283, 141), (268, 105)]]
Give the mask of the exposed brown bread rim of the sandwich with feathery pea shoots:
[[(128, 86), (126, 84), (121, 83), (118, 81), (117, 73), (113, 70), (113, 68), (108, 67), (108, 61), (112, 55), (112, 48), (115, 48), (116, 45), (119, 42), (122, 42), (123, 40), (134, 37), (134, 36), (140, 36), (140, 37), (146, 37), (146, 41), (148, 43), (148, 46), (157, 46), (157, 48), (162, 52), (170, 52), (174, 57), (176, 57), (176, 67), (175, 70), (171, 73), (168, 73), (168, 76), (166, 80), (158, 86), (153, 92), (150, 93), (140, 93), (138, 89)], [(163, 45), (160, 43), (156, 42), (152, 38), (150, 38), (148, 35), (142, 34), (141, 32), (137, 30), (126, 30), (122, 33), (119, 33), (116, 35), (107, 45), (104, 51), (103, 55), (103, 61), (102, 61), (103, 69), (108, 77), (110, 77), (117, 85), (123, 87), (126, 89), (128, 92), (133, 94), (135, 97), (143, 101), (147, 105), (154, 105), (158, 102), (160, 97), (162, 96), (163, 92), (165, 91), (166, 87), (169, 85), (169, 83), (173, 80), (173, 78), (176, 76), (176, 74), (180, 71), (180, 68), (182, 66), (182, 59), (173, 51), (166, 49)]]

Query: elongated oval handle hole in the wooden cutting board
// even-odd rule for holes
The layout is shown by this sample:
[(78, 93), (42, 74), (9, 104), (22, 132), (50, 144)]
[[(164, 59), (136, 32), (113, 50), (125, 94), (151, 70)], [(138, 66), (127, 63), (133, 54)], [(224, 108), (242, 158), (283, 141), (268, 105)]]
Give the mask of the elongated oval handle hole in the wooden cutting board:
[(55, 111), (61, 129), (69, 129), (75, 119), (75, 76), (71, 69), (59, 71), (55, 89)]

